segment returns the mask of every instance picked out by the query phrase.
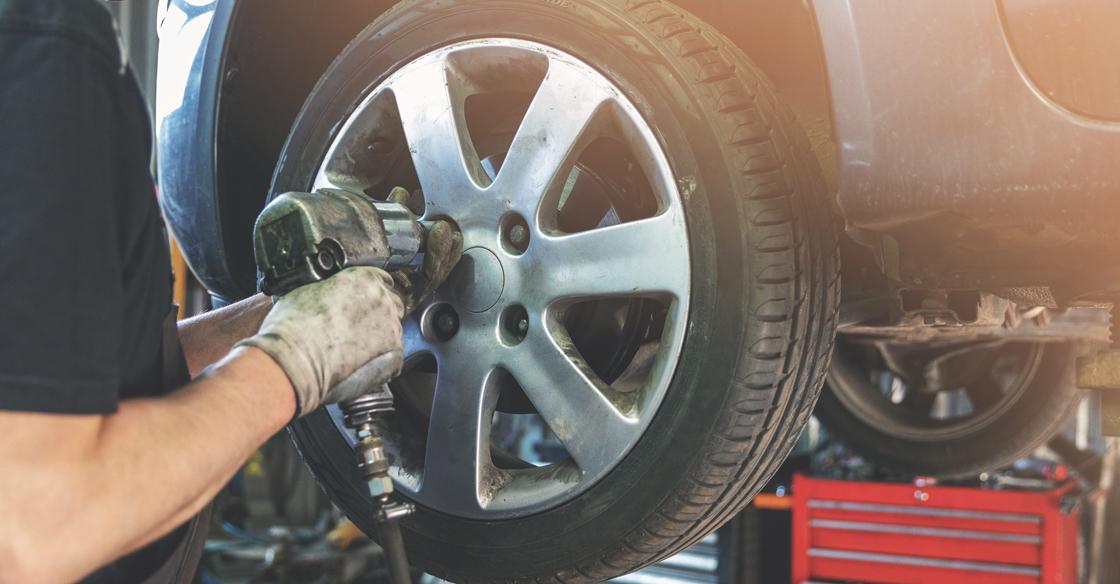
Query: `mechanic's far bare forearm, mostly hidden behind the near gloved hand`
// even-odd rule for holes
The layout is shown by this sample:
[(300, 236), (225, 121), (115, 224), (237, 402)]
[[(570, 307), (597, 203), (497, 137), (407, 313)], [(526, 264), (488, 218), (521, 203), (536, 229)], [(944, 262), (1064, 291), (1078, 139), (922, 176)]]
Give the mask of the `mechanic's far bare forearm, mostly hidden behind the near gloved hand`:
[(272, 309), (272, 299), (258, 294), (206, 314), (179, 322), (179, 340), (190, 374), (197, 377), (225, 356), (234, 343), (253, 336)]

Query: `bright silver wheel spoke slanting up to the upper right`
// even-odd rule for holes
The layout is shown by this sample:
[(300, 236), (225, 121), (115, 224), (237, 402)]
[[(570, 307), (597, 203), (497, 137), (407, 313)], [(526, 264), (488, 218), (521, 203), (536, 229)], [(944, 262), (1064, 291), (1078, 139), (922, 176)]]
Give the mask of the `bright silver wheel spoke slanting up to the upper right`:
[(610, 99), (607, 87), (552, 58), (494, 183), (500, 197), (524, 216), (554, 203), (576, 159), (591, 139), (596, 114)]

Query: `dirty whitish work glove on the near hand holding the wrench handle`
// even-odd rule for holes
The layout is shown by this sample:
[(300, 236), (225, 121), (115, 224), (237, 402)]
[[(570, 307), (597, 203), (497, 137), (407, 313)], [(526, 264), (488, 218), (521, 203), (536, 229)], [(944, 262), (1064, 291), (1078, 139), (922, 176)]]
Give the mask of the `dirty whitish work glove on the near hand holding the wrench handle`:
[(234, 346), (255, 346), (283, 369), (300, 417), (396, 376), (404, 356), (403, 314), (389, 274), (347, 268), (274, 297), (260, 333)]

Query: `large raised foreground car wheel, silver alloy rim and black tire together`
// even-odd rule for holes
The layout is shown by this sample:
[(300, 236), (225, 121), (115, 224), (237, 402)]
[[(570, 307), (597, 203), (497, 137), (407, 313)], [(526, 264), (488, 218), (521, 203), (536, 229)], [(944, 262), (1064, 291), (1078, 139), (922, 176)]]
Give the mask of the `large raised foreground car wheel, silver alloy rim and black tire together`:
[[(272, 192), (327, 186), (403, 186), (464, 234), (382, 428), (409, 557), (439, 577), (656, 562), (746, 504), (809, 419), (839, 294), (824, 183), (758, 71), (671, 4), (399, 4), (320, 80)], [(511, 416), (554, 462), (503, 447)], [(337, 410), (291, 433), (375, 535)]]

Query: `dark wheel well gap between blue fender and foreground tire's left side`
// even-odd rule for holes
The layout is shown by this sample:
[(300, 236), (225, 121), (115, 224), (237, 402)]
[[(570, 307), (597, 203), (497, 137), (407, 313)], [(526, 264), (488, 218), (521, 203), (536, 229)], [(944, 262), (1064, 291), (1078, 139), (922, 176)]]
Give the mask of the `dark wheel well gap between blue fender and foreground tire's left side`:
[(223, 55), (214, 156), (226, 261), (244, 296), (256, 289), (253, 222), (296, 115), (335, 57), (393, 3), (333, 0), (328, 10), (308, 0), (237, 2)]

